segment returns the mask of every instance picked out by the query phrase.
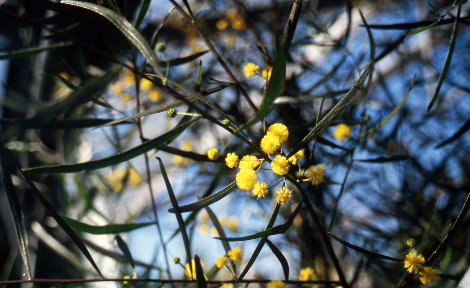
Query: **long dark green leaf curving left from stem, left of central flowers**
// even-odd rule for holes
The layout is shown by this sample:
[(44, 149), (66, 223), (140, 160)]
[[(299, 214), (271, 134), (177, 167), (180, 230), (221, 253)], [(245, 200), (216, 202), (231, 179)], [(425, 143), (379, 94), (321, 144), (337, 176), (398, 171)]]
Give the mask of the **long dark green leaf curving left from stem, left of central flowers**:
[(137, 147), (134, 147), (125, 152), (99, 159), (94, 161), (88, 161), (78, 164), (70, 165), (55, 165), (55, 166), (43, 166), (43, 167), (33, 167), (24, 169), (25, 173), (31, 174), (41, 174), (41, 173), (76, 173), (80, 171), (89, 171), (95, 170), (102, 167), (108, 167), (111, 165), (116, 165), (121, 162), (133, 159), (139, 155), (142, 155), (145, 152), (148, 152), (152, 149), (156, 149), (160, 145), (168, 144), (174, 138), (179, 136), (186, 128), (188, 128), (193, 122), (197, 121), (199, 118), (195, 118), (188, 122), (182, 123), (175, 127), (174, 129), (154, 138), (150, 141), (145, 142)]

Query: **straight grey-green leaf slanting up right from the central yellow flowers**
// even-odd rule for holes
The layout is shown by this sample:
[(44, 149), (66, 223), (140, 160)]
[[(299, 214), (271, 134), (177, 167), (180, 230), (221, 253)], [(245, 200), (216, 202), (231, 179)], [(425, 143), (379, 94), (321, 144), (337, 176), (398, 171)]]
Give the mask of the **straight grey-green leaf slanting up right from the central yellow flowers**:
[(357, 80), (356, 84), (352, 86), (352, 88), (346, 93), (345, 97), (343, 97), (337, 105), (335, 105), (329, 112), (328, 114), (321, 119), (321, 121), (313, 127), (312, 131), (308, 133), (307, 136), (305, 136), (302, 141), (300, 141), (299, 144), (297, 144), (290, 152), (287, 154), (287, 158), (289, 159), (291, 156), (293, 156), (295, 153), (297, 153), (300, 149), (303, 149), (312, 139), (316, 136), (318, 136), (324, 129), (326, 129), (329, 124), (343, 111), (343, 109), (346, 108), (346, 106), (351, 103), (352, 99), (356, 94), (360, 91), (360, 88), (364, 84), (364, 82), (367, 79), (367, 76), (369, 75), (370, 69), (372, 66), (372, 62), (369, 61), (366, 65), (366, 68), (364, 68), (364, 72), (362, 72), (361, 76)]

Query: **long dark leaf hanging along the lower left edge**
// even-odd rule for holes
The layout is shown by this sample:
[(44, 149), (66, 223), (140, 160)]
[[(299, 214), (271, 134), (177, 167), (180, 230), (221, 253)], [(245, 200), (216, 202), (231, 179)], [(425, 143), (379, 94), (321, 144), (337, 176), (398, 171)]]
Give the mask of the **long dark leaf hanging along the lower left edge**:
[[(28, 245), (28, 231), (26, 223), (24, 222), (23, 208), (21, 207), (18, 194), (16, 193), (15, 186), (11, 182), (11, 174), (8, 172), (8, 155), (7, 150), (1, 145), (0, 147), (0, 184), (2, 190), (5, 191), (8, 211), (10, 212), (13, 220), (16, 240), (18, 241), (18, 248), (20, 250), (21, 258), (23, 259), (24, 268), (26, 270), (26, 277), (31, 279), (31, 268), (29, 262), (29, 245)], [(7, 162), (8, 161), (8, 162)]]

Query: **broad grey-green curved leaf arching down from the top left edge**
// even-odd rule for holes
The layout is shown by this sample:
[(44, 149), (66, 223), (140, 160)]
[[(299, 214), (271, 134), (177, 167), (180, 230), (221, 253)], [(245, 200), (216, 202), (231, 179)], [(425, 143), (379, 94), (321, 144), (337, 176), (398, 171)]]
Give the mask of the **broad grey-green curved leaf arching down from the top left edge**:
[(147, 61), (149, 61), (150, 65), (157, 71), (158, 75), (161, 76), (162, 79), (165, 79), (163, 72), (158, 65), (157, 57), (155, 57), (155, 54), (152, 52), (149, 43), (145, 41), (139, 31), (137, 31), (131, 23), (125, 20), (123, 16), (113, 10), (93, 3), (76, 0), (62, 0), (61, 3), (86, 8), (106, 17), (111, 23), (118, 27), (118, 29), (129, 39), (129, 41), (133, 43), (133, 45), (137, 47), (137, 49), (139, 49)]

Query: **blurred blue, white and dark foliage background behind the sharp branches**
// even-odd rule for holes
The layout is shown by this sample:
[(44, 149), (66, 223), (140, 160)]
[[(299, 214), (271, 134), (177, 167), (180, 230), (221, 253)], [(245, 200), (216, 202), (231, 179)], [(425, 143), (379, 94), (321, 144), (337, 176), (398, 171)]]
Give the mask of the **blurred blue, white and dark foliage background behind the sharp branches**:
[[(285, 151), (293, 149), (313, 129), (352, 88), (367, 62), (373, 61), (373, 72), (360, 92), (315, 141), (304, 147), (305, 159), (299, 161), (303, 169), (316, 164), (325, 168), (320, 185), (299, 184), (324, 230), (364, 249), (403, 259), (411, 251), (409, 238), (414, 238), (416, 249), (428, 256), (449, 231), (448, 220), (454, 224), (457, 219), (470, 190), (469, 6), (462, 1), (457, 11), (452, 5), (459, 2), (302, 3), (286, 54), (285, 83), (266, 117), (267, 125), (284, 123), (288, 127)], [(155, 51), (164, 76), (186, 90), (146, 75), (156, 71), (102, 15), (58, 1), (0, 3), (0, 50), (4, 51), (0, 59), (7, 71), (0, 90), (0, 255), (4, 256), (0, 257), (0, 281), (28, 274), (17, 241), (18, 237), (22, 239), (22, 229), (28, 239), (26, 254), (33, 278), (99, 276), (76, 241), (85, 243), (104, 277), (135, 273), (139, 278), (183, 278), (184, 269), (173, 265), (172, 259), (185, 258), (184, 246), (174, 214), (167, 212), (172, 204), (155, 156), (163, 160), (179, 204), (196, 202), (235, 181), (234, 170), (223, 161), (228, 152), (240, 157), (253, 153), (237, 138), (230, 142), (226, 129), (199, 119), (175, 137), (165, 136), (165, 141), (146, 149), (145, 154), (138, 153), (138, 157), (107, 162), (85, 172), (58, 173), (63, 169), (59, 167), (54, 173), (27, 174), (52, 209), (81, 222), (68, 222), (77, 238), (58, 226), (54, 215), (25, 182), (19, 165), (31, 168), (106, 159), (149, 143), (190, 117), (180, 113), (196, 113), (184, 103), (175, 104), (181, 95), (191, 96), (188, 90), (200, 91), (232, 123), (242, 126), (255, 114), (243, 94), (259, 108), (266, 75), (273, 66), (273, 38), (286, 27), (292, 1), (194, 0), (179, 4), (189, 17), (194, 15), (194, 23), (227, 63), (238, 85), (208, 51), (204, 38), (173, 7), (174, 2), (93, 2), (134, 25)], [(439, 19), (430, 29), (403, 34)], [(446, 61), (450, 61), (448, 70), (441, 73)], [(248, 63), (258, 65), (257, 75), (244, 75)], [(445, 77), (436, 93), (439, 76)], [(394, 110), (410, 86), (413, 88), (406, 102)], [(437, 101), (426, 112), (433, 94), (438, 95)], [(196, 114), (219, 122), (226, 119), (201, 101), (192, 103), (199, 107)], [(169, 116), (170, 108), (178, 114)], [(145, 111), (152, 114), (93, 129)], [(393, 117), (388, 119), (388, 115)], [(388, 121), (380, 124), (384, 119)], [(334, 135), (340, 123), (351, 128), (351, 135), (345, 139)], [(266, 127), (258, 122), (244, 133), (258, 145)], [(206, 156), (213, 147), (221, 149), (221, 156), (215, 160)], [(293, 170), (290, 173), (295, 177)], [(258, 175), (270, 185), (280, 179), (263, 170)], [(287, 220), (300, 201), (295, 187), (290, 189), (294, 190), (292, 200), (281, 207), (275, 225)], [(274, 191), (270, 189), (266, 197), (257, 200), (250, 191), (235, 189), (211, 209), (227, 236), (251, 235), (265, 229), (276, 205)], [(12, 201), (18, 201), (18, 205), (12, 206)], [(16, 216), (12, 218), (8, 211), (15, 211), (15, 207), (19, 214), (13, 213)], [(214, 230), (204, 209), (183, 216), (191, 251), (202, 258), (206, 276), (214, 277), (208, 273), (215, 274), (211, 267), (216, 257), (225, 254), (221, 242), (212, 238), (220, 231)], [(134, 234), (141, 230), (133, 231), (138, 228), (133, 223), (143, 223), (138, 227), (150, 224), (142, 228), (147, 234)], [(109, 224), (127, 226), (106, 226)], [(89, 233), (99, 226), (109, 230)], [(469, 267), (469, 228), (467, 217), (452, 229), (451, 237), (429, 265), (439, 273), (463, 275)], [(319, 280), (338, 280), (319, 228), (304, 207), (286, 233), (269, 239), (287, 258), (291, 280), (297, 280), (299, 270), (305, 267), (313, 268)], [(256, 243), (231, 243), (232, 247), (243, 247), (238, 273)], [(421, 285), (406, 273), (403, 263), (375, 258), (334, 240), (332, 244), (351, 287)], [(135, 272), (128, 254), (133, 255)], [(215, 279), (231, 279), (224, 269)], [(282, 271), (265, 247), (246, 278), (284, 279)], [(123, 285), (105, 283), (80, 285)], [(428, 285), (456, 284), (456, 280), (441, 278)]]

